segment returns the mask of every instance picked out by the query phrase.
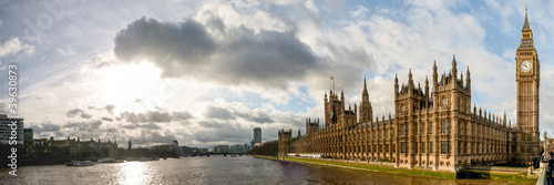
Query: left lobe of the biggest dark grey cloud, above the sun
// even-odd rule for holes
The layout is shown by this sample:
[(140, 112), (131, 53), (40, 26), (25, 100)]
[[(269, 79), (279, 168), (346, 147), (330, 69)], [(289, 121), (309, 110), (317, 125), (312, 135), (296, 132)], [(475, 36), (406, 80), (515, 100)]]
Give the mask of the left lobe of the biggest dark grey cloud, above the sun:
[(191, 68), (215, 49), (214, 40), (196, 21), (170, 23), (143, 17), (116, 34), (114, 52), (121, 60), (145, 58), (170, 70)]

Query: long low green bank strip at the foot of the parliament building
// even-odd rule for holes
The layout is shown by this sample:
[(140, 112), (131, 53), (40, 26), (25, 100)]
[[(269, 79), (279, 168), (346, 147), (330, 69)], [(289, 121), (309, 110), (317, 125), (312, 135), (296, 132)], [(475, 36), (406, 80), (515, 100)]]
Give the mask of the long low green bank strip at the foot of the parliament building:
[(371, 171), (371, 172), (382, 172), (382, 173), (391, 173), (399, 175), (410, 175), (410, 176), (423, 176), (423, 177), (434, 177), (434, 178), (447, 178), (447, 179), (456, 179), (456, 178), (472, 178), (472, 179), (495, 179), (495, 181), (507, 181), (511, 183), (522, 183), (522, 184), (533, 184), (536, 182), (536, 177), (526, 177), (525, 174), (512, 174), (512, 173), (502, 173), (502, 172), (490, 172), (490, 171), (475, 171), (475, 169), (462, 169), (458, 173), (447, 172), (447, 171), (432, 171), (432, 169), (421, 169), (421, 168), (394, 168), (388, 165), (367, 165), (363, 162), (358, 164), (353, 163), (343, 163), (339, 161), (322, 161), (316, 158), (299, 158), (299, 157), (275, 157), (275, 156), (265, 156), (265, 155), (256, 155), (255, 157), (267, 158), (267, 160), (279, 160), (279, 161), (289, 161), (295, 163), (305, 163), (305, 164), (314, 164), (314, 165), (325, 165), (325, 166), (334, 166), (334, 167), (345, 167), (345, 168), (353, 168), (361, 171)]

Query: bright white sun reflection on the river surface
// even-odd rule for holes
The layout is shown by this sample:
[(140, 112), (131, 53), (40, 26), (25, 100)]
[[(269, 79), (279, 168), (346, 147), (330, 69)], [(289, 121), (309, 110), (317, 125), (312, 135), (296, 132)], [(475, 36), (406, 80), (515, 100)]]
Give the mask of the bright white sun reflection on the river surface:
[(127, 162), (122, 163), (120, 168), (120, 184), (151, 184), (152, 169), (147, 163)]

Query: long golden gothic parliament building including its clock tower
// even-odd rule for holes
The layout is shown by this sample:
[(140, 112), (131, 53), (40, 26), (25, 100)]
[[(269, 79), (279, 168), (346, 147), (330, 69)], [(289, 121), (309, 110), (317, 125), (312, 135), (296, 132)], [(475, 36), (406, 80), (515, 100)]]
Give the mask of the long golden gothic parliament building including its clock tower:
[[(394, 113), (377, 116), (363, 83), (361, 103), (346, 109), (343, 92), (325, 94), (325, 120), (306, 121), (306, 134), (278, 133), (279, 155), (321, 154), (335, 158), (393, 162), (396, 167), (454, 169), (468, 165), (524, 163), (540, 157), (540, 61), (527, 20), (515, 55), (516, 119), (471, 105), (471, 73), (459, 72), (455, 56), (448, 73), (437, 63), (424, 86), (394, 79)], [(432, 90), (432, 91), (430, 91)]]

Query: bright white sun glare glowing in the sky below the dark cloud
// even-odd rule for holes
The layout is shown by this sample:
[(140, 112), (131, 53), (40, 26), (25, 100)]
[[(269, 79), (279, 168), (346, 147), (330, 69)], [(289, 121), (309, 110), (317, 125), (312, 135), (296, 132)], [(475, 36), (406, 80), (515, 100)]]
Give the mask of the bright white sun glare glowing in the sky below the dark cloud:
[(161, 70), (148, 62), (115, 65), (103, 69), (100, 91), (104, 101), (116, 107), (132, 110), (135, 100), (156, 93)]

